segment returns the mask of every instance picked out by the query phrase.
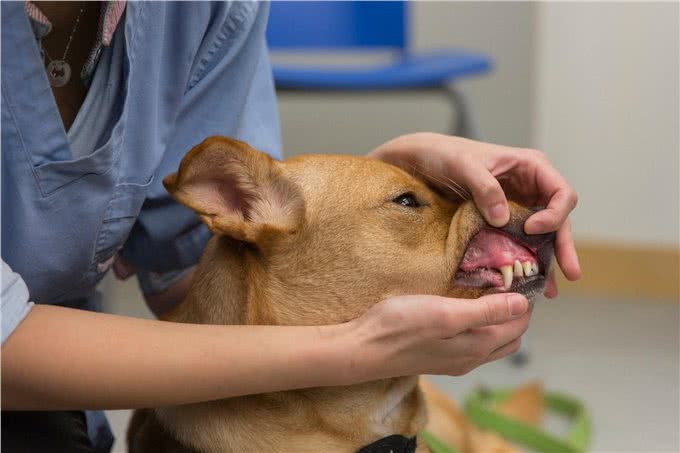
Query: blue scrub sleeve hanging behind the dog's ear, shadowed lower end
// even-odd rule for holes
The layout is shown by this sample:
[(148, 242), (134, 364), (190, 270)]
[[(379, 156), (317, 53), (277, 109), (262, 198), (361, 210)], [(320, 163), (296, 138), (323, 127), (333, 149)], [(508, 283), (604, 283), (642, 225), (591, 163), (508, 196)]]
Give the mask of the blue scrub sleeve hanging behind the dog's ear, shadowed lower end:
[(178, 271), (196, 264), (210, 238), (193, 211), (176, 203), (162, 185), (186, 152), (208, 136), (224, 135), (280, 157), (276, 94), (265, 42), (269, 5), (231, 5), (237, 9), (211, 21), (206, 33), (211, 39), (196, 55), (163, 159), (121, 250), (137, 268), (146, 294), (169, 286)]

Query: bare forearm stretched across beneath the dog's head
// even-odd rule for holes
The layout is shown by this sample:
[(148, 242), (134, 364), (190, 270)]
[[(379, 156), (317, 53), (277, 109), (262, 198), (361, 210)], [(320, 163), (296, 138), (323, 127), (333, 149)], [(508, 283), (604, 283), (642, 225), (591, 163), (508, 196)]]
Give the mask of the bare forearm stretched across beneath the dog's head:
[(343, 384), (340, 331), (180, 324), (36, 306), (2, 347), (2, 408), (159, 407)]

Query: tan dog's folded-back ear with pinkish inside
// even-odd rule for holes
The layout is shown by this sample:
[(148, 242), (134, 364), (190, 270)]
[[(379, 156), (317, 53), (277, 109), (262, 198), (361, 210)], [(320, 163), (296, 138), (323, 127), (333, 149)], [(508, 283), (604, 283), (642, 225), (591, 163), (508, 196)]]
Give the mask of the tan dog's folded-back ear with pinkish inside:
[(280, 164), (246, 143), (209, 137), (184, 156), (163, 185), (218, 235), (258, 243), (295, 231), (304, 218), (299, 188)]

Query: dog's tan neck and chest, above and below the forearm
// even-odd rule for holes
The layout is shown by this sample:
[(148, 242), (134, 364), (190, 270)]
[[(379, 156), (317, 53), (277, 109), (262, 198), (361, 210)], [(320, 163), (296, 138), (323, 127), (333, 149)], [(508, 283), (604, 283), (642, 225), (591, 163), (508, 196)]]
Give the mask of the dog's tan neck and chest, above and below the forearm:
[[(246, 247), (230, 239), (211, 240), (196, 270), (190, 294), (166, 319), (247, 324), (249, 319), (259, 317), (249, 305), (249, 297), (255, 296), (248, 283), (248, 273), (254, 264), (248, 259)], [(157, 413), (178, 439), (199, 442), (200, 445), (193, 446), (201, 451), (210, 451), (215, 445), (223, 449), (228, 445), (229, 451), (304, 451), (302, 446), (310, 438), (329, 445), (329, 451), (357, 450), (380, 437), (391, 434), (410, 437), (422, 429), (425, 405), (417, 384), (417, 377), (394, 378), (347, 387), (230, 398), (161, 409)], [(262, 426), (262, 420), (271, 421), (273, 416), (278, 428)], [(187, 433), (187, 429), (192, 429), (187, 427), (192, 426), (201, 429)], [(283, 438), (287, 443), (280, 445)], [(301, 448), (290, 443), (297, 441)]]

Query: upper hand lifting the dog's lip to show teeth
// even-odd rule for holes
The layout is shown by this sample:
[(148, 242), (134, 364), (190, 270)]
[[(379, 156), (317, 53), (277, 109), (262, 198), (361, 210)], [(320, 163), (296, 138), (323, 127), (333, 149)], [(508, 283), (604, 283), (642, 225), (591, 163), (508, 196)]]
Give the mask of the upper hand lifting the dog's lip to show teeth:
[[(524, 231), (557, 231), (555, 256), (560, 269), (569, 280), (580, 278), (567, 218), (576, 206), (576, 192), (543, 153), (423, 132), (391, 140), (369, 157), (417, 171), (432, 185), (458, 197), (469, 197), (469, 190), (486, 221), (496, 227), (505, 225), (510, 217), (506, 196), (527, 206), (545, 206), (529, 217)], [(557, 295), (552, 273), (545, 295)]]

